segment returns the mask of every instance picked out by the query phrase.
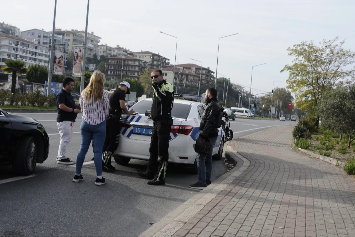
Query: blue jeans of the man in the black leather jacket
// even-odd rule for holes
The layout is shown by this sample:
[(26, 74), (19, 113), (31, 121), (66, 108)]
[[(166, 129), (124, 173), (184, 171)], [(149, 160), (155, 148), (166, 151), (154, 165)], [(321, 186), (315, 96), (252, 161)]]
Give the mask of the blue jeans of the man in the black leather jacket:
[[(214, 138), (209, 138), (212, 143), (212, 147), (217, 141), (217, 136)], [(198, 169), (198, 182), (201, 184), (206, 184), (206, 181), (211, 181), (211, 173), (212, 173), (212, 153), (207, 155), (198, 154), (196, 157), (197, 169)]]

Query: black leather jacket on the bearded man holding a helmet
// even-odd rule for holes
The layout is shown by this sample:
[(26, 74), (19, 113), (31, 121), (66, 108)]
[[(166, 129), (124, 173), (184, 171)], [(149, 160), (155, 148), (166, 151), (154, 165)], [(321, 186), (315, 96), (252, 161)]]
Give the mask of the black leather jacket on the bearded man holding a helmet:
[(201, 135), (213, 138), (218, 136), (218, 128), (221, 126), (221, 109), (217, 98), (207, 100), (207, 108), (202, 115), (200, 123)]

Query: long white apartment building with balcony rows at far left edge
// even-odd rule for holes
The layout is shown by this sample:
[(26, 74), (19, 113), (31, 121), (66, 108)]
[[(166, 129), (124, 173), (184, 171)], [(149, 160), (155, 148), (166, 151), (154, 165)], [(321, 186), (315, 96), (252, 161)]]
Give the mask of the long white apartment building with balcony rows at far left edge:
[(0, 66), (5, 65), (6, 59), (20, 59), (27, 67), (31, 64), (48, 66), (49, 56), (49, 48), (44, 45), (0, 33)]

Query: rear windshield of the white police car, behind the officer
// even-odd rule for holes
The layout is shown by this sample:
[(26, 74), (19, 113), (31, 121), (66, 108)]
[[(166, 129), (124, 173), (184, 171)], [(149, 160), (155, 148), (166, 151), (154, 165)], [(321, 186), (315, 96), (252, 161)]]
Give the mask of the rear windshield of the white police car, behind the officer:
[[(151, 110), (151, 108), (152, 101), (140, 101), (131, 107), (131, 109), (134, 109), (135, 112), (140, 114), (144, 114), (147, 110)], [(186, 115), (190, 113), (190, 109), (190, 104), (174, 103), (171, 116), (175, 118), (186, 118)]]

